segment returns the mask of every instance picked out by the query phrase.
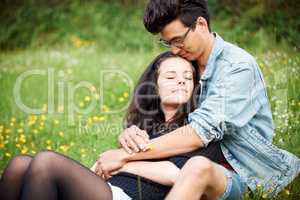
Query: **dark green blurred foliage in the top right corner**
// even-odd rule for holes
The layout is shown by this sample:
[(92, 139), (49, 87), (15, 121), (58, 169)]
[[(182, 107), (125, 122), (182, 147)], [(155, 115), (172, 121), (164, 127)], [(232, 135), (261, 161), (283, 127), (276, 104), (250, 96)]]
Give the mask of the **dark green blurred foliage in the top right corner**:
[(212, 15), (230, 16), (231, 26), (241, 23), (250, 31), (267, 29), (276, 41), (300, 41), (300, 3), (297, 0), (209, 0)]

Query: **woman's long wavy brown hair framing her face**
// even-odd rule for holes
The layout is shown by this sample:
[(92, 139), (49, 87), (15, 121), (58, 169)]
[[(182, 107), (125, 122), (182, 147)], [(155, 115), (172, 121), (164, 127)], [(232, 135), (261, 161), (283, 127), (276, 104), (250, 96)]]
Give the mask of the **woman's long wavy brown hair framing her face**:
[(174, 117), (165, 122), (165, 116), (161, 109), (161, 100), (157, 93), (158, 69), (160, 64), (168, 59), (178, 57), (170, 51), (158, 55), (152, 63), (146, 68), (139, 79), (133, 98), (129, 104), (124, 118), (125, 127), (136, 125), (148, 134), (152, 132), (169, 132), (187, 121), (187, 116), (197, 107), (200, 87), (198, 84), (198, 67), (193, 63), (194, 92), (189, 101), (183, 104), (174, 115)]

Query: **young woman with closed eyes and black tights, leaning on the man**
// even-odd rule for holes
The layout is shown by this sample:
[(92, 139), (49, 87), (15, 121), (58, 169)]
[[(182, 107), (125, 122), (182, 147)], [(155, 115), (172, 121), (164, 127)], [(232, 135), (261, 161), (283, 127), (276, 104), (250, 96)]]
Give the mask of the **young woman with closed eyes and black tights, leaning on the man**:
[[(125, 131), (145, 131), (152, 139), (183, 126), (197, 103), (193, 98), (198, 93), (197, 74), (190, 62), (170, 52), (159, 55), (139, 80)], [(53, 151), (33, 158), (16, 156), (2, 175), (0, 199), (162, 199), (190, 157), (204, 155), (218, 163), (224, 161), (218, 143), (186, 154), (173, 151), (176, 156), (117, 162), (126, 151), (109, 150), (100, 156), (94, 172)]]

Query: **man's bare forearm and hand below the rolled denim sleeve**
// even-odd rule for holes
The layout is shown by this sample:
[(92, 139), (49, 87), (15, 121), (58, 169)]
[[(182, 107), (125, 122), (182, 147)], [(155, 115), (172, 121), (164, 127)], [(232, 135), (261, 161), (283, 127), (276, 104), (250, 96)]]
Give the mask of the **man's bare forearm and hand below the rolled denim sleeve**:
[(204, 146), (200, 136), (189, 125), (152, 139), (150, 144), (151, 149), (132, 154), (127, 153), (123, 148), (108, 150), (100, 154), (97, 164), (91, 170), (109, 177), (128, 162), (171, 157)]

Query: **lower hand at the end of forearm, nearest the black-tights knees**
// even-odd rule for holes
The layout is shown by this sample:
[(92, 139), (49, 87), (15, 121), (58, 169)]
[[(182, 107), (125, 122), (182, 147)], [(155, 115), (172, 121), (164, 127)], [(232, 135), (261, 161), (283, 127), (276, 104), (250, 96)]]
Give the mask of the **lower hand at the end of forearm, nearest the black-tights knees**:
[(127, 157), (128, 154), (123, 149), (108, 150), (99, 155), (95, 173), (108, 179), (126, 164)]

